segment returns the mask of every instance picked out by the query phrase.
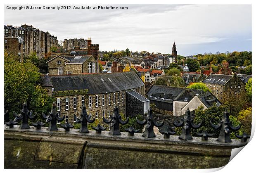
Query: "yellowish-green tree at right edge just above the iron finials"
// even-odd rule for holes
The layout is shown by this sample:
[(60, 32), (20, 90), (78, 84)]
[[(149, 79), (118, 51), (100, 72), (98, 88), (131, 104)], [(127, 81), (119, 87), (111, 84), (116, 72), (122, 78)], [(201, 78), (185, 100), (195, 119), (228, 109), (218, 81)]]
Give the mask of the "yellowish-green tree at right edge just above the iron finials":
[(242, 129), (248, 135), (251, 134), (251, 107), (239, 112), (238, 120), (242, 123)]

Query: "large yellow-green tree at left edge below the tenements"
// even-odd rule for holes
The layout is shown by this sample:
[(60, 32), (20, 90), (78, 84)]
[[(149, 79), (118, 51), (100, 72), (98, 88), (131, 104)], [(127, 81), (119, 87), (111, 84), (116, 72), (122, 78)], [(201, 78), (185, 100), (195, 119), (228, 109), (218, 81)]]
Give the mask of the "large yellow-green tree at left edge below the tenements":
[(20, 111), (24, 102), (30, 105), (40, 73), (35, 64), (19, 63), (5, 53), (5, 106), (9, 112)]

